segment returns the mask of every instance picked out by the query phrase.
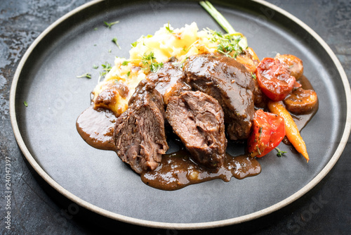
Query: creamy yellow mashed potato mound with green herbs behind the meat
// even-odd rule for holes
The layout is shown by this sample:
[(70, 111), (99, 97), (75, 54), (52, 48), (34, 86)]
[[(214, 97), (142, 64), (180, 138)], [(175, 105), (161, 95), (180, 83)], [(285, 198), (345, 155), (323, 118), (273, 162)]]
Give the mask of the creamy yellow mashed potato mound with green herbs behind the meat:
[(152, 65), (161, 66), (170, 58), (183, 63), (189, 56), (214, 52), (218, 44), (211, 42), (211, 37), (208, 30), (199, 31), (196, 23), (180, 29), (165, 24), (154, 35), (140, 37), (131, 44), (130, 57), (116, 57), (105, 80), (93, 90), (95, 108), (108, 108), (120, 115), (128, 108), (135, 87), (153, 69)]

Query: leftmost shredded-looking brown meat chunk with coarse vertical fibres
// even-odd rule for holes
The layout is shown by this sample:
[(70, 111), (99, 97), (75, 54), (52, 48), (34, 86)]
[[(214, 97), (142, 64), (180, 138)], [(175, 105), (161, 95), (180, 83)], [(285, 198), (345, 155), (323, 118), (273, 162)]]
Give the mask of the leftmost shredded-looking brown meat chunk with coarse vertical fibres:
[(137, 173), (154, 170), (168, 150), (162, 97), (154, 84), (143, 80), (128, 105), (114, 126), (117, 155)]

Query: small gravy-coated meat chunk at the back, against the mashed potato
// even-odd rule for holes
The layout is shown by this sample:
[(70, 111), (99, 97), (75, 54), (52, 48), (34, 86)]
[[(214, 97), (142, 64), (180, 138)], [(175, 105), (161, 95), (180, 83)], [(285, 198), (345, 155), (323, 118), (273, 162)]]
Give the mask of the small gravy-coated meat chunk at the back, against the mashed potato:
[(190, 91), (191, 87), (184, 82), (183, 70), (171, 62), (164, 63), (164, 66), (157, 72), (147, 75), (147, 80), (153, 82), (159, 93), (168, 103), (171, 96), (179, 96), (183, 91)]

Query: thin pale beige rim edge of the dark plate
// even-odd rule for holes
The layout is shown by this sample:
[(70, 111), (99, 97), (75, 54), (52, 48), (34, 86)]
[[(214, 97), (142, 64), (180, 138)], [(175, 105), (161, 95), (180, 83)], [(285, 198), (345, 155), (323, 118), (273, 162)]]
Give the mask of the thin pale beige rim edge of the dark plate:
[(285, 17), (291, 19), (293, 23), (296, 23), (300, 27), (303, 27), (303, 29), (306, 30), (306, 32), (311, 34), (311, 36), (317, 40), (317, 42), (322, 46), (322, 48), (326, 51), (326, 53), (328, 53), (334, 65), (336, 65), (341, 81), (343, 82), (343, 88), (345, 90), (346, 119), (345, 119), (345, 128), (343, 129), (343, 135), (341, 136), (340, 143), (338, 144), (336, 151), (333, 153), (333, 156), (331, 157), (329, 162), (325, 165), (325, 167), (308, 184), (303, 186), (302, 189), (296, 191), (296, 193), (293, 193), (288, 198), (285, 198), (284, 200), (279, 201), (279, 203), (275, 203), (274, 205), (264, 208), (263, 210), (258, 210), (256, 212), (252, 212), (247, 215), (242, 215), (242, 216), (230, 218), (227, 220), (217, 220), (213, 222), (170, 223), (170, 222), (154, 222), (150, 220), (141, 220), (134, 217), (119, 215), (116, 212), (111, 212), (111, 211), (99, 208), (98, 206), (88, 203), (87, 201), (84, 201), (78, 196), (75, 196), (73, 193), (67, 191), (67, 189), (65, 189), (63, 186), (58, 184), (58, 182), (55, 182), (55, 180), (51, 178), (48, 175), (48, 173), (46, 173), (44, 169), (37, 163), (37, 161), (34, 159), (32, 154), (29, 152), (25, 144), (25, 141), (22, 139), (22, 136), (20, 134), (20, 129), (18, 127), (16, 113), (15, 113), (15, 94), (17, 90), (18, 80), (20, 79), (20, 74), (22, 72), (22, 68), (27, 62), (27, 59), (31, 55), (32, 51), (34, 51), (34, 49), (39, 44), (39, 42), (41, 42), (41, 39), (43, 39), (46, 36), (46, 34), (51, 32), (51, 30), (55, 29), (55, 27), (60, 25), (60, 23), (62, 23), (67, 18), (71, 17), (76, 13), (79, 13), (79, 11), (83, 11), (85, 8), (98, 4), (102, 1), (105, 1), (105, 0), (90, 1), (77, 8), (74, 8), (72, 11), (69, 11), (69, 13), (66, 13), (62, 17), (58, 18), (58, 20), (55, 20), (55, 22), (49, 25), (46, 28), (46, 30), (41, 32), (41, 34), (39, 34), (37, 39), (35, 39), (34, 42), (32, 42), (32, 44), (29, 46), (25, 54), (22, 56), (20, 63), (18, 64), (18, 67), (15, 70), (15, 75), (13, 76), (13, 80), (11, 84), (10, 99), (9, 99), (10, 100), (10, 118), (11, 118), (13, 133), (15, 135), (15, 139), (18, 143), (18, 146), (20, 147), (20, 150), (22, 151), (23, 155), (27, 159), (28, 163), (37, 172), (37, 174), (39, 174), (39, 176), (42, 179), (44, 179), (45, 182), (47, 182), (53, 189), (55, 189), (55, 191), (58, 191), (58, 193), (60, 193), (62, 196), (65, 196), (70, 201), (76, 203), (82, 208), (85, 208), (86, 210), (90, 210), (92, 212), (97, 213), (98, 215), (102, 215), (103, 217), (107, 217), (112, 220), (118, 220), (121, 222), (126, 222), (128, 224), (135, 224), (139, 226), (154, 227), (154, 228), (160, 228), (160, 229), (208, 229), (208, 228), (223, 227), (227, 225), (247, 222), (250, 220), (257, 219), (258, 217), (263, 217), (264, 215), (268, 215), (281, 208), (284, 208), (286, 205), (293, 203), (293, 201), (296, 201), (298, 198), (305, 195), (305, 193), (307, 193), (312, 188), (314, 188), (314, 186), (316, 186), (336, 164), (336, 162), (340, 158), (340, 155), (343, 153), (343, 150), (347, 144), (347, 140), (350, 136), (350, 131), (351, 131), (351, 102), (350, 102), (351, 89), (350, 89), (350, 83), (347, 80), (347, 76), (345, 74), (345, 70), (343, 69), (343, 66), (341, 65), (340, 61), (336, 57), (335, 53), (333, 53), (329, 45), (326, 44), (326, 42), (324, 42), (324, 39), (322, 39), (322, 37), (320, 37), (316, 32), (314, 32), (312, 28), (310, 28), (308, 25), (303, 23), (302, 20), (299, 20), (298, 18), (296, 18), (296, 16), (292, 15), (291, 13), (285, 11), (282, 8), (279, 8), (278, 6), (275, 6), (274, 4), (270, 4), (263, 0), (251, 0), (263, 6), (267, 6), (268, 8), (271, 8), (273, 11), (277, 11), (278, 13), (285, 15)]

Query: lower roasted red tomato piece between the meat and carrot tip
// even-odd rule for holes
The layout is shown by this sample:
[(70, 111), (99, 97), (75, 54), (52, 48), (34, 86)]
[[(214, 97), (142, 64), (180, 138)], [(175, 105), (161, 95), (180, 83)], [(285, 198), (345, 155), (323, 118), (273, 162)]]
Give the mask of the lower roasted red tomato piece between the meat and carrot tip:
[(279, 145), (285, 136), (284, 119), (259, 109), (253, 117), (253, 130), (248, 139), (251, 157), (263, 157)]

